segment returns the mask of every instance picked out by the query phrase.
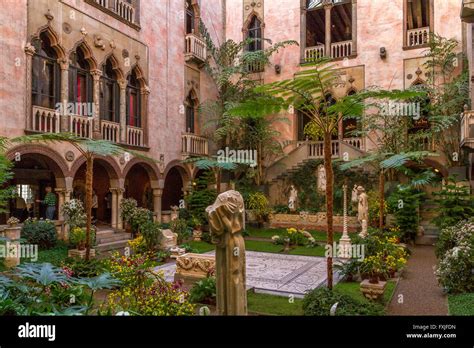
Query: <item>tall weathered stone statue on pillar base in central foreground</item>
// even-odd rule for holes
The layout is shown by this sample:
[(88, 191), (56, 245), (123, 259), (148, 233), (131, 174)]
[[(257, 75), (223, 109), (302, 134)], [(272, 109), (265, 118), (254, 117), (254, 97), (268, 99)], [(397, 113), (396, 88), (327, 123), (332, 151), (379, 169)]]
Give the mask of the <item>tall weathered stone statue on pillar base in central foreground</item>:
[(219, 315), (247, 315), (245, 286), (244, 200), (237, 191), (221, 193), (207, 207), (216, 244), (216, 290)]

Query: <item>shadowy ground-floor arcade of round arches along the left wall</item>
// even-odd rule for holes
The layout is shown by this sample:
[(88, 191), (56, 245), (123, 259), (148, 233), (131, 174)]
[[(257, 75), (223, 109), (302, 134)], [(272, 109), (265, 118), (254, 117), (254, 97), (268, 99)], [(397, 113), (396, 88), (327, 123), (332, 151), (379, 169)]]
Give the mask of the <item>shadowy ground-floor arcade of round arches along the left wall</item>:
[[(68, 165), (58, 152), (48, 146), (24, 145), (10, 150), (8, 157), (13, 161), (11, 186), (16, 198), (9, 202), (7, 212), (0, 214), (0, 224), (10, 216), (21, 221), (28, 217), (44, 218), (45, 206), (41, 203), (46, 187), (56, 194), (55, 220), (62, 221), (62, 205), (70, 199), (84, 201), (86, 165), (78, 158)], [(94, 160), (93, 190), (97, 196), (97, 209), (93, 210), (97, 225), (122, 229), (120, 203), (124, 198), (133, 198), (138, 206), (154, 212), (155, 219), (170, 214), (174, 205), (184, 198), (191, 178), (183, 166), (170, 165), (161, 174), (151, 164), (132, 159), (123, 169), (111, 157)]]

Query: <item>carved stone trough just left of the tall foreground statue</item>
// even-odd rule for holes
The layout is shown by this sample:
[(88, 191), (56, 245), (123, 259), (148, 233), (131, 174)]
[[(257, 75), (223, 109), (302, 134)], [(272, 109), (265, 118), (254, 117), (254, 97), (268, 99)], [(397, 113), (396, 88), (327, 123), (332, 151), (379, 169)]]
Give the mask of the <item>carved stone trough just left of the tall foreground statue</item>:
[(185, 254), (176, 259), (175, 281), (182, 281), (185, 288), (191, 288), (194, 283), (207, 278), (216, 268), (214, 255)]

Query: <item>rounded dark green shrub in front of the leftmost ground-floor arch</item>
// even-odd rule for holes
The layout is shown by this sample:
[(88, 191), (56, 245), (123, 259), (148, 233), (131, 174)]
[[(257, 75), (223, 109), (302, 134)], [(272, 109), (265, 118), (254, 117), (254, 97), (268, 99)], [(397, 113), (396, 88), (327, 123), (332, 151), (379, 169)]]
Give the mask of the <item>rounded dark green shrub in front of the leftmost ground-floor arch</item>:
[(51, 249), (57, 243), (56, 227), (47, 220), (28, 219), (21, 229), (21, 237), (40, 249)]

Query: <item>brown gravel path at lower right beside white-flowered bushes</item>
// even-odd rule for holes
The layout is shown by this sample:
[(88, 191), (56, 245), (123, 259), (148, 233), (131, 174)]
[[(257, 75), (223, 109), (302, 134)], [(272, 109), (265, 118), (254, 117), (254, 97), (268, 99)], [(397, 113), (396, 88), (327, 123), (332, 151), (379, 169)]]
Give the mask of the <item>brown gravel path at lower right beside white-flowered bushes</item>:
[[(389, 315), (447, 315), (448, 303), (433, 273), (434, 247), (417, 246), (388, 307)], [(403, 295), (403, 303), (399, 303)]]

